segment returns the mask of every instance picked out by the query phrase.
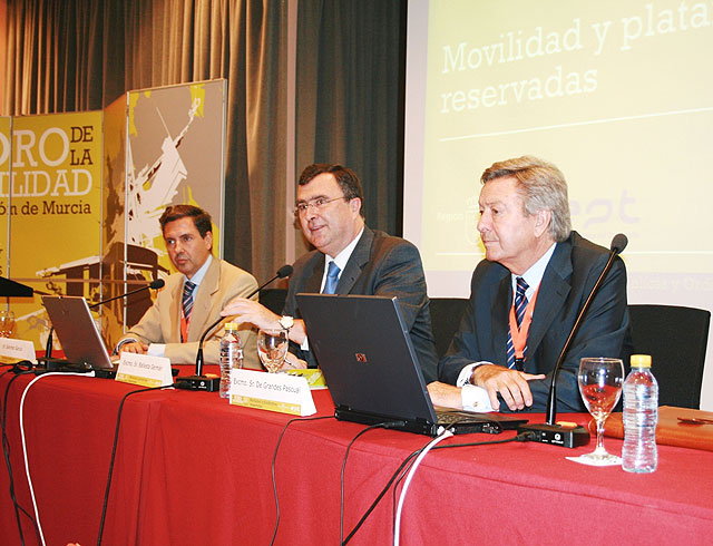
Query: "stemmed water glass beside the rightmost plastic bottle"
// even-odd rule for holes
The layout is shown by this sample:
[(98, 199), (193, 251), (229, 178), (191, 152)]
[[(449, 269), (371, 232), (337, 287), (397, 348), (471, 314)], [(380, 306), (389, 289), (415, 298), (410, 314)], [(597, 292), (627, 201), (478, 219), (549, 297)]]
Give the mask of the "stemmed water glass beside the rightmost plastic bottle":
[(597, 447), (582, 458), (593, 465), (621, 465), (622, 459), (604, 449), (604, 421), (622, 394), (624, 364), (621, 359), (586, 358), (579, 361), (577, 383), (584, 404), (597, 423)]

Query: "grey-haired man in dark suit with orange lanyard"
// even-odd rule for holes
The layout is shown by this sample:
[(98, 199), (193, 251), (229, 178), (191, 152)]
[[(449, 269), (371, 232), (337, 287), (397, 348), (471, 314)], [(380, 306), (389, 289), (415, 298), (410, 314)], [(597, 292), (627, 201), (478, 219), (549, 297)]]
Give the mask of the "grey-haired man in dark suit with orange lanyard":
[[(442, 406), (545, 411), (555, 363), (608, 251), (572, 231), (567, 184), (554, 165), (509, 159), (486, 169), (481, 182), (478, 231), (486, 260), (472, 274), (470, 304), (439, 362), (439, 379), (449, 384), (436, 382), (429, 391)], [(627, 337), (626, 269), (617, 257), (564, 360), (558, 410), (584, 410), (579, 360), (621, 358)]]

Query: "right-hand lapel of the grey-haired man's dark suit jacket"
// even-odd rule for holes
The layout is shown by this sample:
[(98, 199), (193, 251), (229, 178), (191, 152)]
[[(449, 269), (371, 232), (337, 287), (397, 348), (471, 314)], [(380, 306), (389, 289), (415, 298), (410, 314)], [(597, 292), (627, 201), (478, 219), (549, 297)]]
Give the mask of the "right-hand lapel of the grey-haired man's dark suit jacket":
[(572, 245), (568, 242), (557, 243), (543, 282), (537, 294), (533, 324), (527, 335), (527, 352), (535, 354), (545, 333), (551, 326), (555, 318), (559, 314), (572, 285)]

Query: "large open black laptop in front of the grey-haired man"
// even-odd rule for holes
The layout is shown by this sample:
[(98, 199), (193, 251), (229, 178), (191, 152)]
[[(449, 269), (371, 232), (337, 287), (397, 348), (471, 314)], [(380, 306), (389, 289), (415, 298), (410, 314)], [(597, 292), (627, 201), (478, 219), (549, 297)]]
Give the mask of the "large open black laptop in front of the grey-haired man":
[(436, 411), (397, 298), (297, 294), (310, 350), (324, 373), (338, 419), (437, 436), (516, 429), (527, 419)]

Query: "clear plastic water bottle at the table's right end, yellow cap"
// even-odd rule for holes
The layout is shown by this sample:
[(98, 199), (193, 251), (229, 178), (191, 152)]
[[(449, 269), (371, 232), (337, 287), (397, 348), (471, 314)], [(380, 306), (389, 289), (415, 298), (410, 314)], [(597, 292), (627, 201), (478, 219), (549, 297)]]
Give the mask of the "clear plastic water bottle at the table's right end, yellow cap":
[(658, 383), (651, 372), (648, 354), (632, 354), (632, 371), (624, 381), (624, 447), (622, 468), (627, 472), (653, 472), (658, 464), (656, 423)]

